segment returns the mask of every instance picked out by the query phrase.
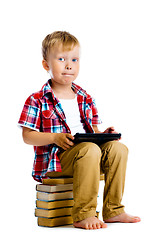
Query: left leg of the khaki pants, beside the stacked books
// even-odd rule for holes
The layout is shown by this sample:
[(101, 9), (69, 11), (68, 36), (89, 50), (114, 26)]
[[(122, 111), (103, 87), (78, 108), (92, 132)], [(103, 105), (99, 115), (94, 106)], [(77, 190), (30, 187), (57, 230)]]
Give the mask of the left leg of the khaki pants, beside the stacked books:
[(96, 216), (100, 179), (101, 149), (91, 142), (82, 142), (59, 154), (62, 173), (47, 174), (73, 176), (74, 222)]

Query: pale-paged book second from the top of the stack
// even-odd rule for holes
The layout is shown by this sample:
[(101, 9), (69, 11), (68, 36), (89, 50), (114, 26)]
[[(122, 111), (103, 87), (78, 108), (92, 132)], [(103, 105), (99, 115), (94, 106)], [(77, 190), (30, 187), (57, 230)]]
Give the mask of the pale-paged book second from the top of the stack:
[(36, 190), (41, 192), (62, 192), (73, 190), (73, 184), (45, 185), (37, 184)]

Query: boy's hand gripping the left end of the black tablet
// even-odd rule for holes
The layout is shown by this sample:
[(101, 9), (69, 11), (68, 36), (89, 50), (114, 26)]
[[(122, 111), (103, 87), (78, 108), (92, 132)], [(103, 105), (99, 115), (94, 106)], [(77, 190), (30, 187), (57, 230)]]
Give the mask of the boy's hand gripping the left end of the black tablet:
[(55, 133), (54, 143), (64, 150), (74, 145), (71, 140), (74, 140), (74, 137), (70, 133)]

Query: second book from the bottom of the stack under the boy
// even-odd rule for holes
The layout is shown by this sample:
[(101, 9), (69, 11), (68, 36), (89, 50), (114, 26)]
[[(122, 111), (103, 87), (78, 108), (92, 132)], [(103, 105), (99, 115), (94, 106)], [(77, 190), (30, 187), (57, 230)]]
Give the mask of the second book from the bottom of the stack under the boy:
[(65, 208), (58, 208), (58, 209), (35, 209), (35, 216), (36, 217), (59, 217), (59, 216), (71, 216), (72, 207), (65, 207)]

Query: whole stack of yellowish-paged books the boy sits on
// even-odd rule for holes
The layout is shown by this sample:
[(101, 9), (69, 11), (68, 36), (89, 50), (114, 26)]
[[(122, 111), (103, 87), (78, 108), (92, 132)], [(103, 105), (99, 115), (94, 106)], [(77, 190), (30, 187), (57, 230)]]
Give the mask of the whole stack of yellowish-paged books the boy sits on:
[(35, 216), (38, 225), (55, 227), (73, 224), (73, 179), (46, 179), (37, 184)]

